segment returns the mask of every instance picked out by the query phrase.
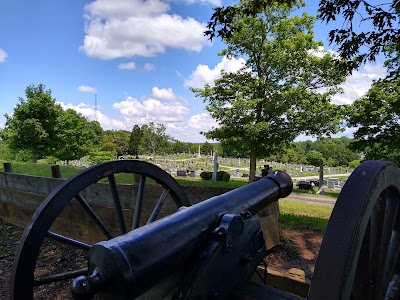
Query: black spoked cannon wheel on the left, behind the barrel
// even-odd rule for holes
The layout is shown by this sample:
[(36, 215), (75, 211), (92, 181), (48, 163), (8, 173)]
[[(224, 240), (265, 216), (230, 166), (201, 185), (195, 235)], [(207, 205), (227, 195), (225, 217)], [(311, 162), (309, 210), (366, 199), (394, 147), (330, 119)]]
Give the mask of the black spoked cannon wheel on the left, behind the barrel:
[[(51, 284), (60, 280), (68, 280), (80, 275), (87, 274), (87, 269), (72, 270), (68, 272), (46, 275), (45, 277), (37, 277), (35, 274), (36, 263), (41, 253), (41, 246), (45, 237), (55, 239), (58, 242), (73, 246), (77, 249), (88, 251), (91, 245), (72, 239), (66, 236), (50, 232), (50, 227), (64, 210), (64, 208), (74, 199), (82, 206), (83, 210), (94, 221), (97, 228), (104, 235), (104, 240), (113, 238), (109, 228), (103, 220), (96, 214), (95, 210), (84, 198), (82, 191), (92, 184), (97, 183), (103, 178), (108, 179), (108, 185), (114, 203), (115, 215), (117, 216), (119, 233), (124, 234), (127, 231), (123, 208), (121, 206), (120, 196), (117, 190), (115, 174), (132, 173), (139, 175), (137, 193), (135, 199), (135, 210), (132, 216), (132, 229), (139, 227), (140, 212), (142, 210), (144, 188), (146, 178), (149, 177), (164, 187), (158, 202), (153, 209), (147, 223), (154, 221), (157, 214), (163, 206), (168, 195), (174, 200), (176, 206), (190, 206), (182, 188), (176, 180), (159, 167), (147, 162), (137, 160), (120, 160), (95, 165), (85, 169), (78, 174), (70, 177), (61, 183), (47, 198), (41, 203), (26, 227), (20, 243), (18, 245), (14, 264), (12, 268), (11, 297), (12, 299), (33, 299), (34, 287), (43, 284)], [(132, 199), (133, 202), (134, 199)], [(140, 223), (140, 224), (139, 224)], [(46, 239), (47, 240), (47, 239)], [(87, 253), (87, 252), (84, 252)]]

